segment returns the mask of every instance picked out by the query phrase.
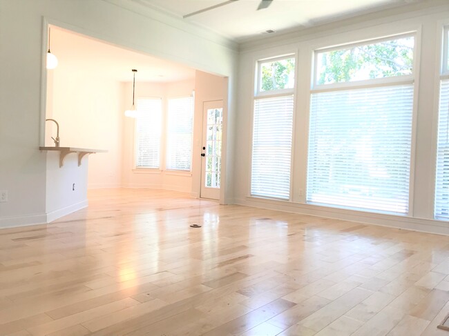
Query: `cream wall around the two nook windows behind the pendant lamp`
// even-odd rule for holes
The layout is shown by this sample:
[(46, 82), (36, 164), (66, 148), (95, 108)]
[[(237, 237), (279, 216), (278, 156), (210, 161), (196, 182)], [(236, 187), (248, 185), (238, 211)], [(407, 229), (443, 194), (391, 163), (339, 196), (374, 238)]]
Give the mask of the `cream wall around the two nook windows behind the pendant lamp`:
[[(173, 83), (142, 83), (135, 85), (135, 97), (160, 97), (162, 99), (162, 135), (160, 169), (135, 169), (135, 119), (123, 117), (123, 162), (122, 185), (126, 188), (162, 188), (191, 192), (192, 172), (167, 171), (165, 166), (165, 141), (166, 141), (166, 108), (170, 98), (186, 97), (191, 95), (195, 88), (195, 79), (178, 81)], [(124, 84), (124, 97), (129, 100), (133, 97), (132, 83)], [(125, 103), (126, 105), (126, 103)]]

